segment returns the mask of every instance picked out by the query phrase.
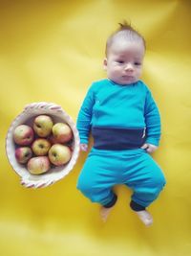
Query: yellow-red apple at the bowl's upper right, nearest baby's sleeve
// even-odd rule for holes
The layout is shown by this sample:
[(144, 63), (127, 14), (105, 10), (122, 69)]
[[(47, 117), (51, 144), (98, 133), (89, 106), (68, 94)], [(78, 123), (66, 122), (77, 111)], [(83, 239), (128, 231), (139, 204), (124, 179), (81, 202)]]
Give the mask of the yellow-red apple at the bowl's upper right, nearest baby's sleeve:
[(73, 138), (73, 131), (65, 123), (56, 123), (53, 125), (53, 137), (58, 143), (65, 143)]

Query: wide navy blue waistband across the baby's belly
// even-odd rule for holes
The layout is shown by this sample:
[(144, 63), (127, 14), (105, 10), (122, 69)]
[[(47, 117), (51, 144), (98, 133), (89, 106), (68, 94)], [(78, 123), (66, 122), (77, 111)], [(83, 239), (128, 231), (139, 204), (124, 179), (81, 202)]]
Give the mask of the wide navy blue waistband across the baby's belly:
[(145, 142), (144, 128), (92, 128), (94, 148), (122, 151), (140, 148)]

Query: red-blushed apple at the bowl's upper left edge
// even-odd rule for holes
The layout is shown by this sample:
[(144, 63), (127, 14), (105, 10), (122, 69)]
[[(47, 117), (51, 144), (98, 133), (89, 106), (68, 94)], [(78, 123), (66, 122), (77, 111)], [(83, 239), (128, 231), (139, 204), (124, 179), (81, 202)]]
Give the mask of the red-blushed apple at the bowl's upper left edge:
[(13, 130), (13, 140), (17, 145), (28, 146), (33, 140), (33, 130), (30, 126), (20, 125)]

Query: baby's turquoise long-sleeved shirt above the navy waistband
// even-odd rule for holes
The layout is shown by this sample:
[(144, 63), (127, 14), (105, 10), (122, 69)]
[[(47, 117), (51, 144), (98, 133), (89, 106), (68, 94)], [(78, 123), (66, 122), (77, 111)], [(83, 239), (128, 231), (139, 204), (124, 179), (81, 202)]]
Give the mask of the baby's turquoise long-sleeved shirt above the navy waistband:
[(146, 143), (158, 146), (159, 109), (143, 81), (128, 85), (95, 81), (78, 113), (81, 143), (88, 143), (91, 128), (146, 128)]

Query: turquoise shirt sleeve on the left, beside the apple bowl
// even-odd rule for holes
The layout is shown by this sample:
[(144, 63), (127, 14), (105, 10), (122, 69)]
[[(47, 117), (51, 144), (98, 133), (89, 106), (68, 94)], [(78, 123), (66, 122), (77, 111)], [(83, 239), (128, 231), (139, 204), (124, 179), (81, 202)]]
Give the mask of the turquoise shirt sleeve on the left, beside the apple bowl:
[(79, 138), (80, 138), (81, 144), (88, 144), (94, 104), (95, 104), (95, 93), (94, 93), (94, 86), (92, 85), (89, 88), (86, 94), (86, 97), (80, 107), (78, 117), (77, 117), (77, 122), (76, 122), (76, 127), (79, 132)]

